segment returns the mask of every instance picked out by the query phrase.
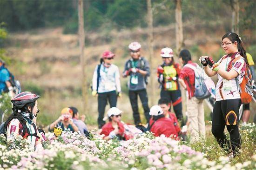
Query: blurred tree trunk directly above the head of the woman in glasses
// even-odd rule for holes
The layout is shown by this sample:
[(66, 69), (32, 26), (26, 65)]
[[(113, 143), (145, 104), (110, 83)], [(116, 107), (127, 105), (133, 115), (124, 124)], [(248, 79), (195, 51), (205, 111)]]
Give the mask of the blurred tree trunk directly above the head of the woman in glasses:
[(239, 35), (239, 2), (238, 0), (230, 0), (232, 8), (232, 32)]

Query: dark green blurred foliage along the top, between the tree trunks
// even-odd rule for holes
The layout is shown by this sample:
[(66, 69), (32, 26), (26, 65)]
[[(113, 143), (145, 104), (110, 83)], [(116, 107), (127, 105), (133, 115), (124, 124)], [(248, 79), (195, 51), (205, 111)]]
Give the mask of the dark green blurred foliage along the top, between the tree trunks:
[[(240, 1), (240, 27), (255, 29), (254, 0)], [(175, 23), (175, 1), (152, 0), (154, 26)], [(77, 1), (65, 0), (1, 0), (0, 22), (6, 22), (11, 31), (44, 26), (64, 26), (64, 33), (77, 33)], [(200, 10), (198, 10), (200, 9)], [(182, 20), (203, 21), (209, 29), (211, 24), (223, 17), (231, 18), (228, 0), (182, 0)], [(85, 29), (88, 31), (121, 29), (147, 26), (146, 0), (84, 0)], [(231, 30), (230, 20), (224, 28)], [(212, 30), (215, 31), (215, 30)]]

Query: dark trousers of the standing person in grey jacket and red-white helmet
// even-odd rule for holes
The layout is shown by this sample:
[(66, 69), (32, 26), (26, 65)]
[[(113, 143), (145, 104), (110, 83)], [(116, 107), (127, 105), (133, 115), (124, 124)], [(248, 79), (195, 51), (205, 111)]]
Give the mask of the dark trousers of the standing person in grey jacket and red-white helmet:
[(138, 90), (138, 91), (129, 91), (129, 99), (133, 109), (133, 118), (134, 118), (135, 125), (141, 123), (139, 107), (138, 107), (138, 95), (141, 99), (144, 115), (147, 119), (147, 122), (149, 122), (149, 119), (150, 119), (149, 107), (148, 107), (148, 94), (146, 89)]

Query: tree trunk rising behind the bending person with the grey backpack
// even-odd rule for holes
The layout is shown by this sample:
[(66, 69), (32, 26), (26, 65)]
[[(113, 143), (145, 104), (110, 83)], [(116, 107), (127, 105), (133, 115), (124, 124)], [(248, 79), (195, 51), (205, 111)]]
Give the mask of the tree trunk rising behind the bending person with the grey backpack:
[(183, 27), (182, 27), (182, 0), (175, 0), (175, 33), (176, 33), (176, 56), (182, 49), (183, 45)]

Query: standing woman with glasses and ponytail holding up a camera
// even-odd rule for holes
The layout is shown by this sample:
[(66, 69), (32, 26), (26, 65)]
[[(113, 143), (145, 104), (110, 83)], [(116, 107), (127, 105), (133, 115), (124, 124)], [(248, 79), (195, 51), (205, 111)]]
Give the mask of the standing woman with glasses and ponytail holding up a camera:
[[(217, 63), (214, 63), (211, 57), (208, 56), (201, 57), (199, 61), (204, 66), (204, 71), (209, 77), (218, 75), (216, 103), (212, 118), (212, 133), (216, 137), (218, 144), (229, 153), (229, 158), (233, 158), (239, 153), (241, 148), (241, 138), (238, 129), (241, 97), (237, 87), (243, 80), (248, 62), (243, 41), (236, 33), (226, 33), (223, 35), (221, 47), (226, 55)], [(231, 146), (227, 136), (224, 134), (225, 126), (229, 131)]]

